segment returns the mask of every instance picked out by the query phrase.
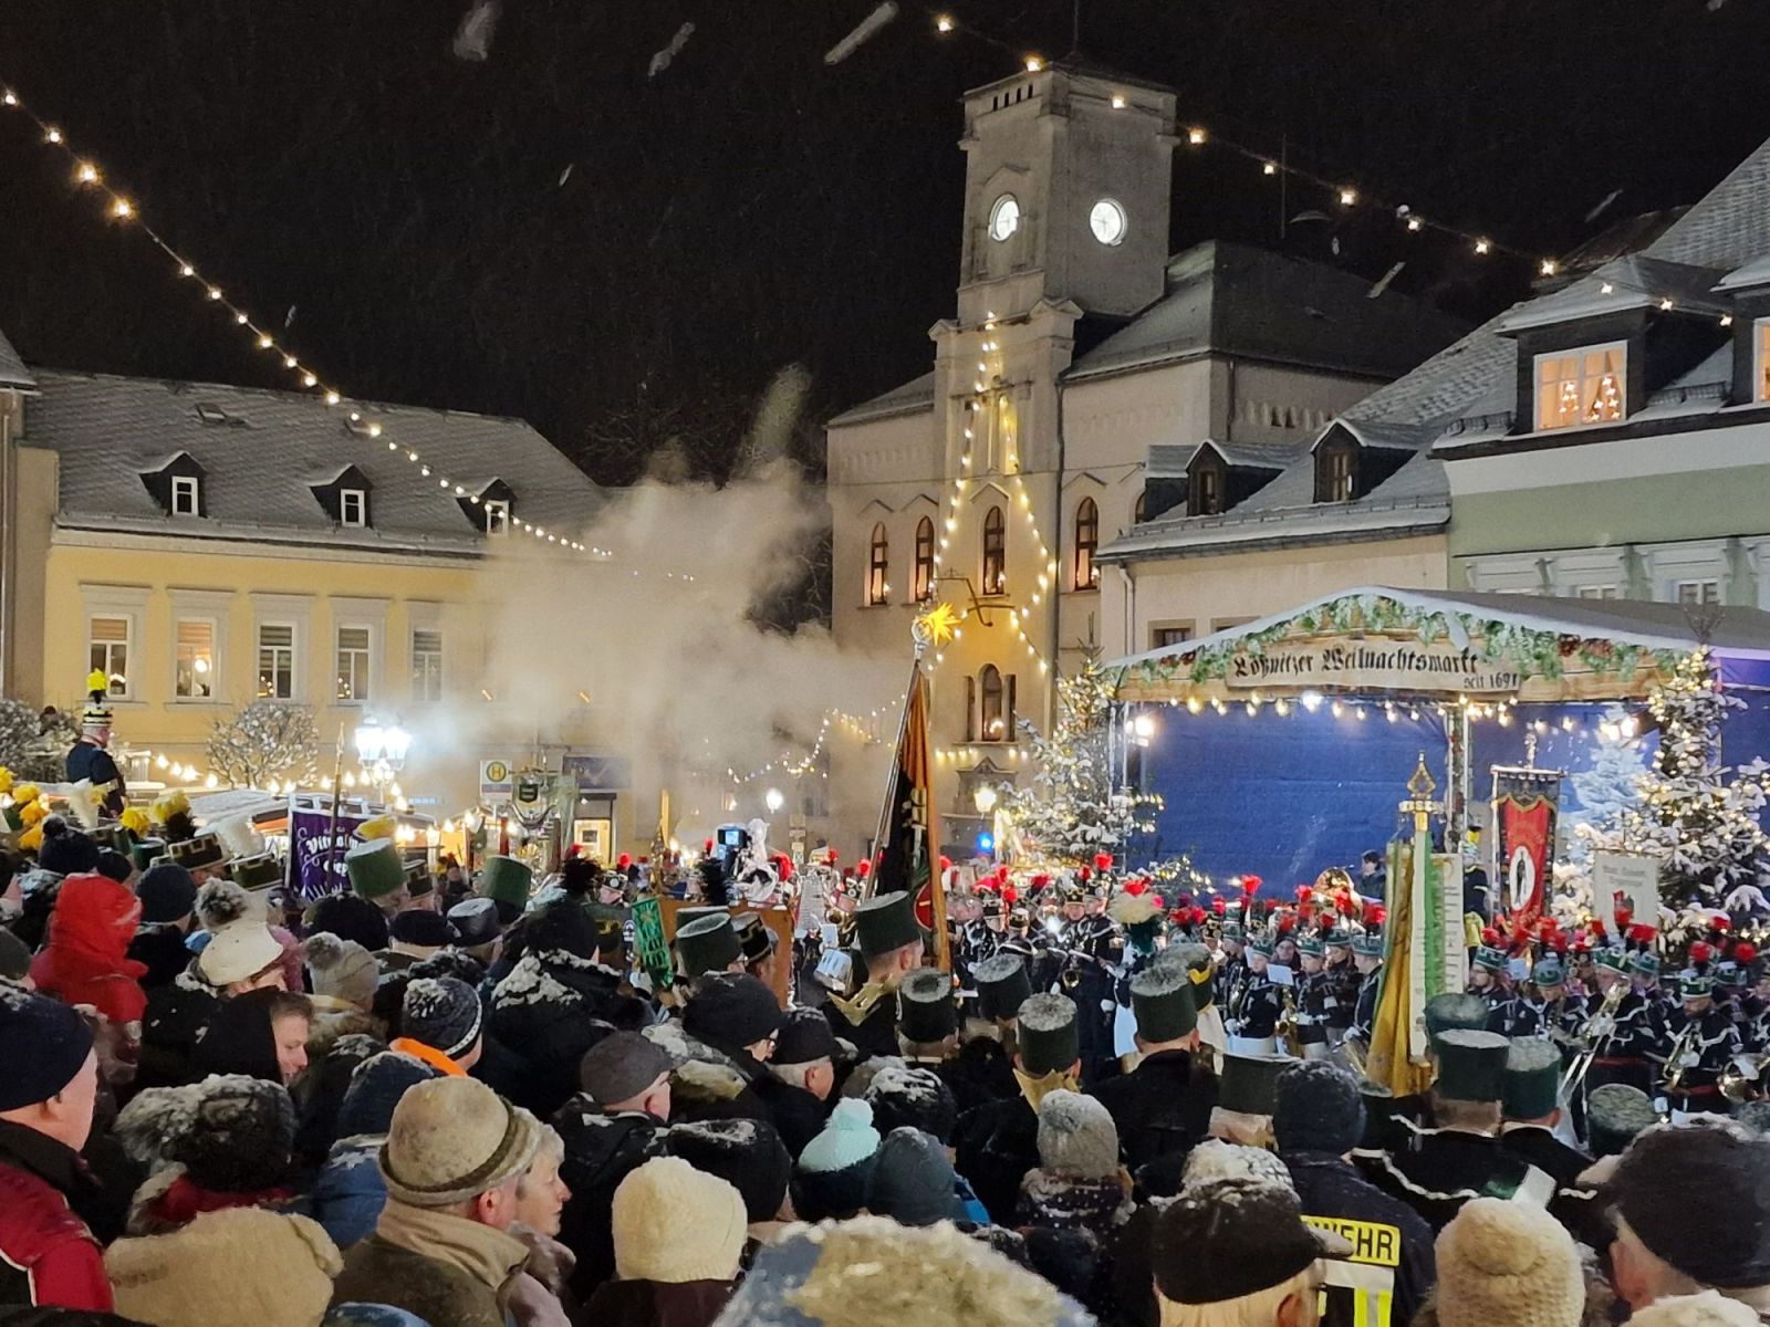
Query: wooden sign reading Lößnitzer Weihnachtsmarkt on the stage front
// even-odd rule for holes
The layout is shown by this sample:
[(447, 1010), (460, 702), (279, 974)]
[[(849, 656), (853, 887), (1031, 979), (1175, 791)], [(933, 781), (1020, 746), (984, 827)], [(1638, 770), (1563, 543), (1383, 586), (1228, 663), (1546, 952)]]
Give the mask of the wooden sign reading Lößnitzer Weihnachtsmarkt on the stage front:
[(1258, 655), (1237, 651), (1223, 681), (1232, 688), (1324, 687), (1352, 692), (1512, 694), (1522, 678), (1504, 662), (1450, 640), (1421, 644), (1370, 635), (1271, 640)]

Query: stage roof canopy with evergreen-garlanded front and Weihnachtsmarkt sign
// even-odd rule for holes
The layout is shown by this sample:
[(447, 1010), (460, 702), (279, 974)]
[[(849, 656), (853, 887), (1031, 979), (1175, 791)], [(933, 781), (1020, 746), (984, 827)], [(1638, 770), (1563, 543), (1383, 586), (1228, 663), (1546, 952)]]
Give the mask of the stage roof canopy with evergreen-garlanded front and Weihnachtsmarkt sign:
[(1110, 669), (1124, 699), (1255, 687), (1620, 699), (1699, 644), (1724, 660), (1770, 660), (1770, 612), (1363, 586)]

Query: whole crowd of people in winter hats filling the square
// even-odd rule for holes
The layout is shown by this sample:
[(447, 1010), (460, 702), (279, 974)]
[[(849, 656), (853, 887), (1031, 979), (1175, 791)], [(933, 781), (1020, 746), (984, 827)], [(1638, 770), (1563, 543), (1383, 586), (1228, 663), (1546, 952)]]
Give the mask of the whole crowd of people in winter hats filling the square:
[[(586, 860), (430, 879), (370, 842), (285, 911), (225, 851), (127, 848), (50, 825), (0, 894), (0, 1323), (1770, 1316), (1761, 1108), (1664, 1124), (1609, 1042), (1570, 1101), (1591, 1017), (1547, 971), (1427, 1005), (1428, 1092), (1361, 1079), (1363, 904), (1280, 927), (1078, 872), (1034, 920), (998, 881), (950, 899), (947, 971), (908, 894), (857, 892), (828, 986), (706, 904), (658, 980)], [(1701, 1044), (1593, 968), (1600, 1032)]]

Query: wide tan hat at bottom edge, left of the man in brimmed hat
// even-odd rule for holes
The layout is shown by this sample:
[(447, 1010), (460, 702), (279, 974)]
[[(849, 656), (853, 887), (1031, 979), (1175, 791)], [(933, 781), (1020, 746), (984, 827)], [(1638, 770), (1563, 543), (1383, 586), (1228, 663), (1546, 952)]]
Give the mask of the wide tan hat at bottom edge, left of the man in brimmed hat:
[(262, 1207), (202, 1212), (104, 1251), (117, 1313), (152, 1327), (317, 1327), (342, 1267), (319, 1223)]

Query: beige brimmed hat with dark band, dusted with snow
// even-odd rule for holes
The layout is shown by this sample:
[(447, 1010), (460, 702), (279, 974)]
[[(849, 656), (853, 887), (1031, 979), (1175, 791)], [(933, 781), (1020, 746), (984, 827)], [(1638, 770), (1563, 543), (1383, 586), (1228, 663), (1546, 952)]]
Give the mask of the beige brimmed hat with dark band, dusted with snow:
[(437, 1078), (405, 1090), (381, 1145), (388, 1198), (450, 1207), (522, 1175), (542, 1125), (473, 1078)]

